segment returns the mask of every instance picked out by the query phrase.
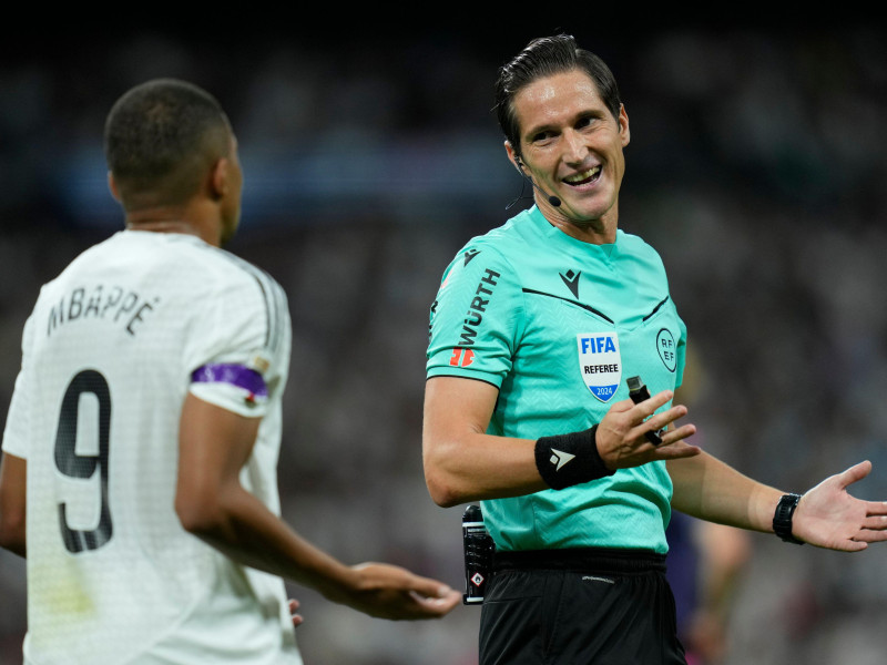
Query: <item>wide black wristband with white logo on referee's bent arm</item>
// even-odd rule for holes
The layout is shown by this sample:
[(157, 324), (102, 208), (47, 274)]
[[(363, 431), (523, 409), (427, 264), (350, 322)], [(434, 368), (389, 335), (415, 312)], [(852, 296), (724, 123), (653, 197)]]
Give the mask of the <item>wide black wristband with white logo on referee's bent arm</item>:
[(542, 437), (536, 442), (536, 468), (552, 490), (612, 475), (598, 452), (598, 426), (581, 432)]

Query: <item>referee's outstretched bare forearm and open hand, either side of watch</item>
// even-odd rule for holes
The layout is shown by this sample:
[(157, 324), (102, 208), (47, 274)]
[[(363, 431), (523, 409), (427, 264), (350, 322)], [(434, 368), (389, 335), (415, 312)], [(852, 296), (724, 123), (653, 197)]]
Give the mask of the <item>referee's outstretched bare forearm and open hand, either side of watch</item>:
[[(711, 522), (773, 533), (773, 516), (785, 492), (707, 453), (669, 461), (667, 469), (676, 510)], [(870, 471), (870, 462), (860, 462), (807, 491), (795, 510), (792, 534), (820, 548), (848, 552), (887, 540), (887, 503), (861, 501), (847, 492)]]

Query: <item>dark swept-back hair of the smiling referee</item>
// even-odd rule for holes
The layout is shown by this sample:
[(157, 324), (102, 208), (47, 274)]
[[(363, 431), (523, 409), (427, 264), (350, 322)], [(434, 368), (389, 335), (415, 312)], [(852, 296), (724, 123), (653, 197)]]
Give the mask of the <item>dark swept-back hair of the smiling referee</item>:
[(514, 112), (514, 95), (538, 79), (579, 70), (585, 72), (598, 88), (603, 103), (619, 119), (622, 100), (615, 76), (598, 55), (577, 47), (570, 34), (557, 34), (532, 40), (513, 59), (499, 68), (496, 79), (496, 114), (499, 126), (520, 155), (520, 126)]

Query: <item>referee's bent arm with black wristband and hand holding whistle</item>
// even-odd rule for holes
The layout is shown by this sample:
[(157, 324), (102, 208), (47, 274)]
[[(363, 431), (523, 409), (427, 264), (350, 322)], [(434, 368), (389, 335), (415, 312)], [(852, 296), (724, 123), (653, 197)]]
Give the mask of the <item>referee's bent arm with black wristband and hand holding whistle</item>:
[[(539, 464), (548, 463), (549, 456), (537, 454), (537, 440), (485, 433), (498, 393), (491, 383), (460, 377), (434, 377), (426, 382), (422, 460), (428, 491), (438, 505), (520, 497), (553, 487), (540, 473)], [(564, 443), (577, 442), (578, 448), (572, 449), (577, 457), (592, 454), (585, 447), (594, 446), (595, 457), (609, 472), (697, 454), (699, 448), (684, 442), (695, 431), (693, 426), (671, 430), (659, 447), (644, 437), (686, 415), (686, 408), (679, 406), (651, 417), (670, 399), (671, 392), (663, 391), (640, 405), (631, 400), (616, 402), (593, 436), (559, 431), (551, 434), (565, 436)], [(560, 446), (557, 440), (546, 438), (554, 441), (552, 447)]]

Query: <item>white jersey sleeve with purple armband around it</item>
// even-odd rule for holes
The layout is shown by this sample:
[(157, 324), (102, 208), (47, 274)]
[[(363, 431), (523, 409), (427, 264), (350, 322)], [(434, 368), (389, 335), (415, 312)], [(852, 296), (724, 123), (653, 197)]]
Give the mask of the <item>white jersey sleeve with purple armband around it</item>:
[(235, 413), (262, 417), (286, 383), (289, 311), (269, 276), (257, 268), (237, 276), (195, 316), (186, 344), (188, 389)]

